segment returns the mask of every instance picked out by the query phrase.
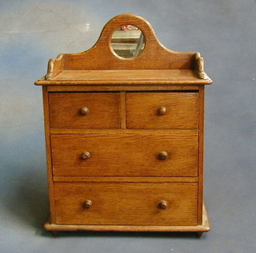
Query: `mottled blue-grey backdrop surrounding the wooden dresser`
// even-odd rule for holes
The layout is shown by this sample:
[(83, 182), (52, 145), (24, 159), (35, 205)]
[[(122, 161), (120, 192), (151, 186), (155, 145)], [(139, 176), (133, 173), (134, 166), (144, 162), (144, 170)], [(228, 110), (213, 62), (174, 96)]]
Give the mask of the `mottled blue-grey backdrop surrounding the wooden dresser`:
[[(50, 57), (89, 49), (110, 18), (146, 18), (170, 49), (199, 51), (206, 87), (205, 197), (212, 231), (43, 231), (48, 215), (41, 87)], [(254, 0), (0, 1), (1, 252), (255, 252)]]

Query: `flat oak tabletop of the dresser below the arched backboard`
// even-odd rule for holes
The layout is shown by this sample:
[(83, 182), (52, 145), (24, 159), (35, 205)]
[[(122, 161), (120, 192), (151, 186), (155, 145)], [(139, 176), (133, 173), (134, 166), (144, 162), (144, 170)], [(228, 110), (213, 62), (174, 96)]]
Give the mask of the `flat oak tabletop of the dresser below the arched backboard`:
[(209, 79), (198, 79), (191, 69), (63, 70), (49, 80), (35, 85), (210, 85)]

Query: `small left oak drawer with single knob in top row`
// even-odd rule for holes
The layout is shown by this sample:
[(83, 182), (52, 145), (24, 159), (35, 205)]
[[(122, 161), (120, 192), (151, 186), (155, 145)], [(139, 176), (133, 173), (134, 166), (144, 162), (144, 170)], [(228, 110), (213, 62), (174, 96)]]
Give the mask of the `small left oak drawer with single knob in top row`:
[(49, 93), (50, 128), (120, 128), (119, 93)]

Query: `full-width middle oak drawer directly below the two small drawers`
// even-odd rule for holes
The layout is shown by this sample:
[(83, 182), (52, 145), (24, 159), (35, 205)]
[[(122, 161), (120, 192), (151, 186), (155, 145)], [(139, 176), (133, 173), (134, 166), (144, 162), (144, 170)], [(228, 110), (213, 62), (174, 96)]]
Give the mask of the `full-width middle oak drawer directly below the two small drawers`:
[(54, 176), (197, 176), (198, 131), (52, 135)]

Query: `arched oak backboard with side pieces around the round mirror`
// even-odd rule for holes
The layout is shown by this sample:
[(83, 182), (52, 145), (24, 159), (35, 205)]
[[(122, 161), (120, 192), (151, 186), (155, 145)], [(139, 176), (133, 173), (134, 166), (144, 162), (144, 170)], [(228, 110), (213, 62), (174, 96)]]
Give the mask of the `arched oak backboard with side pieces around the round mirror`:
[[(118, 57), (111, 47), (111, 35), (124, 23), (137, 26), (146, 38), (145, 47), (137, 57)], [(198, 79), (209, 79), (203, 75), (200, 54), (166, 49), (156, 38), (150, 23), (133, 14), (121, 14), (112, 18), (91, 49), (82, 53), (62, 53), (56, 59), (50, 59), (45, 79), (51, 79), (63, 70), (92, 69), (195, 69), (198, 71)]]

